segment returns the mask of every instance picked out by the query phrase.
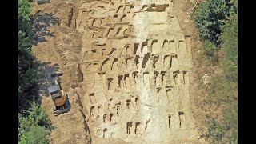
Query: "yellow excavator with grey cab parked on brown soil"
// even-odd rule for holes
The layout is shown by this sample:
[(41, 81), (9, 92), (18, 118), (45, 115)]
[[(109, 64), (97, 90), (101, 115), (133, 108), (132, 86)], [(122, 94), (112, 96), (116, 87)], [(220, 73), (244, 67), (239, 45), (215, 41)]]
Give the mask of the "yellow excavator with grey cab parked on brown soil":
[(54, 77), (55, 85), (48, 87), (51, 95), (54, 115), (62, 114), (70, 110), (69, 98), (67, 97), (66, 92), (64, 92), (58, 84), (58, 77), (61, 75), (61, 72), (51, 74), (51, 77)]

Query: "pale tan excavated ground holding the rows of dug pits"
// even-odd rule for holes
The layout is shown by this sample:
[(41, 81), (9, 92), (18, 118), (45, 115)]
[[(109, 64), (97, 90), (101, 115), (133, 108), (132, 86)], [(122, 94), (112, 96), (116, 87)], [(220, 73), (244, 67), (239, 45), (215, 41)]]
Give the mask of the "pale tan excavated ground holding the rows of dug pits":
[(188, 77), (190, 36), (179, 26), (173, 5), (170, 0), (78, 3), (82, 87), (75, 90), (84, 103), (93, 143), (103, 138), (196, 142)]

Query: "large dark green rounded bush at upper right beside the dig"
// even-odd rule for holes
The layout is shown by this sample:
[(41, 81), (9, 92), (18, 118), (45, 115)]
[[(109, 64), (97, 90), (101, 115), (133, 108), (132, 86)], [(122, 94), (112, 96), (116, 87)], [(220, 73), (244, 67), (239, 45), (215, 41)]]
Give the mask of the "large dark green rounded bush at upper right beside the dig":
[(227, 0), (206, 0), (194, 10), (194, 23), (200, 36), (219, 45), (219, 35), (222, 33), (223, 20), (230, 14), (230, 4)]

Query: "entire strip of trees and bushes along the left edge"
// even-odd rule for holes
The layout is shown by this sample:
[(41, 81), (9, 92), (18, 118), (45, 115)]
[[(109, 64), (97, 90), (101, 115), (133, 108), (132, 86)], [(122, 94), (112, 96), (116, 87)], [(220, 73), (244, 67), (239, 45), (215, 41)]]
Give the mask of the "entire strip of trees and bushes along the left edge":
[(38, 105), (40, 74), (30, 42), (30, 2), (18, 0), (18, 143), (48, 143), (50, 122)]

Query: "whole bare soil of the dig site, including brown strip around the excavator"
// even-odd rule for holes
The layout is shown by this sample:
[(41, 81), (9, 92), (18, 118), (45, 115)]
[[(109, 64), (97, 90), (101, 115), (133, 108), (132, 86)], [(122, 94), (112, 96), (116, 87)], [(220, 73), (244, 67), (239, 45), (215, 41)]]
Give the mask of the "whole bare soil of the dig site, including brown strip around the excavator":
[[(191, 109), (186, 6), (188, 0), (32, 3), (50, 143), (205, 143)], [(55, 71), (71, 105), (58, 116), (47, 92)]]

